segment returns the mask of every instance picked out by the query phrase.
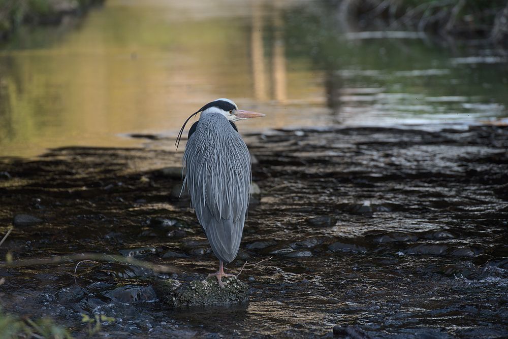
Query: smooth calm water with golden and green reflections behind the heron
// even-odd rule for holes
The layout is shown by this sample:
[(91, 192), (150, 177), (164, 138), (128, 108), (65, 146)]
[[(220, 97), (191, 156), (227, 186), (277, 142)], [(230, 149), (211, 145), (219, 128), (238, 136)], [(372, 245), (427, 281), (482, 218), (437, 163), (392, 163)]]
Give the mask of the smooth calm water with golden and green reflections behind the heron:
[(508, 116), (506, 57), (421, 35), (342, 33), (324, 2), (109, 0), (0, 49), (0, 155), (175, 135), (217, 97), (284, 126)]

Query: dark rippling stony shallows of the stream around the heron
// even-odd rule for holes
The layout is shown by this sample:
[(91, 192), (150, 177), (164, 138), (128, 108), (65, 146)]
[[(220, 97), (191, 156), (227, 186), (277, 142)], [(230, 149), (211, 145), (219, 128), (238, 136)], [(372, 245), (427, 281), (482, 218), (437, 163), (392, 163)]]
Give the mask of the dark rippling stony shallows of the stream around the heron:
[(507, 127), (244, 137), (261, 197), (229, 268), (273, 257), (242, 273), (247, 305), (177, 312), (154, 296), (153, 279), (204, 279), (216, 265), (188, 200), (176, 197), (178, 173), (162, 171), (182, 153), (157, 139), (1, 159), (2, 234), (18, 219), (0, 256), (131, 253), (182, 272), (93, 262), (76, 276), (74, 263), (8, 268), (4, 310), (51, 316), (78, 337), (87, 333), (81, 313), (115, 318), (101, 329), (113, 337), (313, 337), (334, 327), (359, 337), (508, 334)]

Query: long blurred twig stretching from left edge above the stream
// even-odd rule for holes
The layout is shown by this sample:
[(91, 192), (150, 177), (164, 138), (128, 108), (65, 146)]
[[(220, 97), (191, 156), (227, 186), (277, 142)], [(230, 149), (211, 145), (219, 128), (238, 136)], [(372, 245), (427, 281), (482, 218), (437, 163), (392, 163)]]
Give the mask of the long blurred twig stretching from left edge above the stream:
[[(101, 253), (78, 253), (66, 256), (54, 256), (43, 259), (25, 259), (11, 262), (0, 261), (0, 268), (7, 267), (23, 267), (35, 265), (55, 265), (73, 261), (110, 261), (124, 264), (131, 264), (143, 268), (151, 269), (153, 272), (159, 273), (178, 273), (180, 270), (175, 266), (154, 264), (148, 261), (134, 259), (132, 257), (123, 257), (121, 255), (101, 254)], [(76, 272), (76, 269), (74, 270)]]

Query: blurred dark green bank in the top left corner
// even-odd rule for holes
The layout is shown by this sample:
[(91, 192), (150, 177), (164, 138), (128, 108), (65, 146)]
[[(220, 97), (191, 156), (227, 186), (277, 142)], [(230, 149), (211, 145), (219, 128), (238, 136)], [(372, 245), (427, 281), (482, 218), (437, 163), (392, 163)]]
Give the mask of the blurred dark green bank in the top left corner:
[(0, 39), (7, 38), (20, 25), (58, 24), (68, 14), (82, 14), (104, 0), (0, 0)]

